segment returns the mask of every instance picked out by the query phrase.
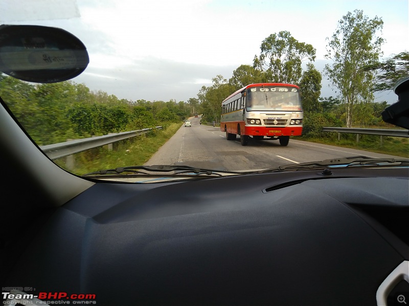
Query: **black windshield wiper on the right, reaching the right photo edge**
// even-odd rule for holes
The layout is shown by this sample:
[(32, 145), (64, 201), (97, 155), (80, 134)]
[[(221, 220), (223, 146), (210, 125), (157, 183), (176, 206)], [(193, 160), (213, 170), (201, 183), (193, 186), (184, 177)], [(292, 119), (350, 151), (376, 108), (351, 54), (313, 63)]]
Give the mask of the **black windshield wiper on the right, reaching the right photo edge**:
[(298, 170), (308, 170), (316, 168), (328, 168), (328, 167), (355, 167), (355, 166), (369, 166), (377, 165), (384, 166), (385, 164), (391, 165), (395, 164), (398, 166), (409, 165), (409, 159), (395, 159), (395, 158), (370, 158), (367, 156), (350, 156), (350, 157), (340, 157), (332, 158), (323, 161), (307, 162), (302, 164), (290, 164), (285, 166), (279, 166), (276, 168), (270, 168), (265, 170), (257, 171), (256, 173), (265, 172), (281, 172), (281, 171), (298, 171)]

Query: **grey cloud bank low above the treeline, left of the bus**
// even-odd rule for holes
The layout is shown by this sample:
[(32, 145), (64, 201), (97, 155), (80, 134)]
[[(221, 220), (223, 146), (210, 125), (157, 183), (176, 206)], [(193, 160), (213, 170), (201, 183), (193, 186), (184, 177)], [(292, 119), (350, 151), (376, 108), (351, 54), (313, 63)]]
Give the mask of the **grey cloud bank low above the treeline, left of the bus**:
[(180, 63), (149, 57), (134, 60), (126, 69), (87, 67), (84, 73), (73, 81), (85, 83), (93, 91), (107, 91), (128, 100), (187, 101), (189, 98), (197, 97), (203, 85), (210, 86), (211, 79), (217, 74), (229, 79), (236, 68)]

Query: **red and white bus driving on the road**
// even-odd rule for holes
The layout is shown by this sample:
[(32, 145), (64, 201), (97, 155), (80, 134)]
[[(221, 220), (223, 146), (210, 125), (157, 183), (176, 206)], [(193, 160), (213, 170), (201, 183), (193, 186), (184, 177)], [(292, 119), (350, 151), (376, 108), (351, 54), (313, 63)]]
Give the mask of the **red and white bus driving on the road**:
[(287, 145), (290, 136), (301, 135), (302, 124), (300, 88), (292, 84), (250, 84), (221, 104), (220, 130), (226, 132), (227, 140), (240, 135), (241, 145), (246, 145), (249, 137), (278, 139)]

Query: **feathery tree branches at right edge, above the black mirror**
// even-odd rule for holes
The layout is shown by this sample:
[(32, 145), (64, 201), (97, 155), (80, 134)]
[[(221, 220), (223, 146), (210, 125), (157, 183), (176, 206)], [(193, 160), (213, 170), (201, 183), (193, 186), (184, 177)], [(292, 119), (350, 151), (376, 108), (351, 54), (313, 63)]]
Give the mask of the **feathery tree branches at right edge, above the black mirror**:
[(392, 90), (399, 80), (409, 77), (409, 52), (401, 52), (365, 69), (376, 73), (374, 91)]

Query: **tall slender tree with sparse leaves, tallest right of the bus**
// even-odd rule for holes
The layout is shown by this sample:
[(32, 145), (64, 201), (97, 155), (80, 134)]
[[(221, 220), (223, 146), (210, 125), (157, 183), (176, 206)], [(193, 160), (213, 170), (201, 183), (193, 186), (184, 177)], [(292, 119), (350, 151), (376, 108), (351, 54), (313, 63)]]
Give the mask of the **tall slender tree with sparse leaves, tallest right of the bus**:
[(326, 58), (332, 64), (327, 64), (324, 72), (345, 104), (347, 127), (351, 127), (354, 106), (373, 101), (374, 74), (365, 67), (376, 63), (381, 55), (384, 39), (377, 32), (382, 27), (381, 18), (369, 19), (355, 10), (343, 16), (331, 39), (327, 38)]

